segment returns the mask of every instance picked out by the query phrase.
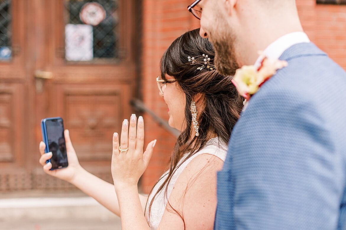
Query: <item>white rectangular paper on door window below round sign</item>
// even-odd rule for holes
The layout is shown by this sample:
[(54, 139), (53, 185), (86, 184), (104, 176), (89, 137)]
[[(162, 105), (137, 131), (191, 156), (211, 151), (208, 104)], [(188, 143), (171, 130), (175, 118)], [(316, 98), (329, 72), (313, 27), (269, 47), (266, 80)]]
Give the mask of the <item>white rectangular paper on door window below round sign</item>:
[(65, 58), (67, 61), (90, 61), (94, 58), (92, 26), (66, 24)]

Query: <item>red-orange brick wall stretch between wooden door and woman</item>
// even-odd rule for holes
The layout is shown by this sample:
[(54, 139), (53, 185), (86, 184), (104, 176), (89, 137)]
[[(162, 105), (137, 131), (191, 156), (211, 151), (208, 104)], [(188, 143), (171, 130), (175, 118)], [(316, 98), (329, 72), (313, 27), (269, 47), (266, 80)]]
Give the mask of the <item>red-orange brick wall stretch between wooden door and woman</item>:
[[(169, 45), (184, 32), (198, 27), (191, 17), (186, 0), (143, 0), (143, 101), (158, 116), (168, 120), (167, 106), (159, 96), (155, 78), (160, 75), (160, 59)], [(147, 115), (146, 142), (157, 139), (157, 144), (142, 177), (144, 192), (151, 190), (166, 168), (176, 138), (157, 126)]]

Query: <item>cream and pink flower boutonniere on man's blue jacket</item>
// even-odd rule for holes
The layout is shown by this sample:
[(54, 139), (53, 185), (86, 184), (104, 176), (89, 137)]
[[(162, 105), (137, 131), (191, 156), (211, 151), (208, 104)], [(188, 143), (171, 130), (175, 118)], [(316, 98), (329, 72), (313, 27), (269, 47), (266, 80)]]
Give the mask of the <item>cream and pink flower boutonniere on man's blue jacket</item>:
[(239, 94), (245, 98), (245, 102), (248, 102), (265, 81), (270, 79), (277, 70), (287, 65), (288, 63), (286, 61), (264, 57), (261, 66), (258, 68), (255, 66), (243, 66), (237, 69), (232, 83), (237, 88)]

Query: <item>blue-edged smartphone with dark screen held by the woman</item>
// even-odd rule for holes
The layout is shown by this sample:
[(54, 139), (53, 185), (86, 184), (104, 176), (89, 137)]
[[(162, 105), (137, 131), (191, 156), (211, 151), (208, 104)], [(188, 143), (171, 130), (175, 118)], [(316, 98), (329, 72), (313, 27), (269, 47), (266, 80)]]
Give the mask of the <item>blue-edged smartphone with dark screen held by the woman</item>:
[(52, 152), (51, 170), (66, 168), (67, 162), (64, 121), (61, 117), (44, 118), (41, 121), (43, 142), (46, 144), (45, 152)]

